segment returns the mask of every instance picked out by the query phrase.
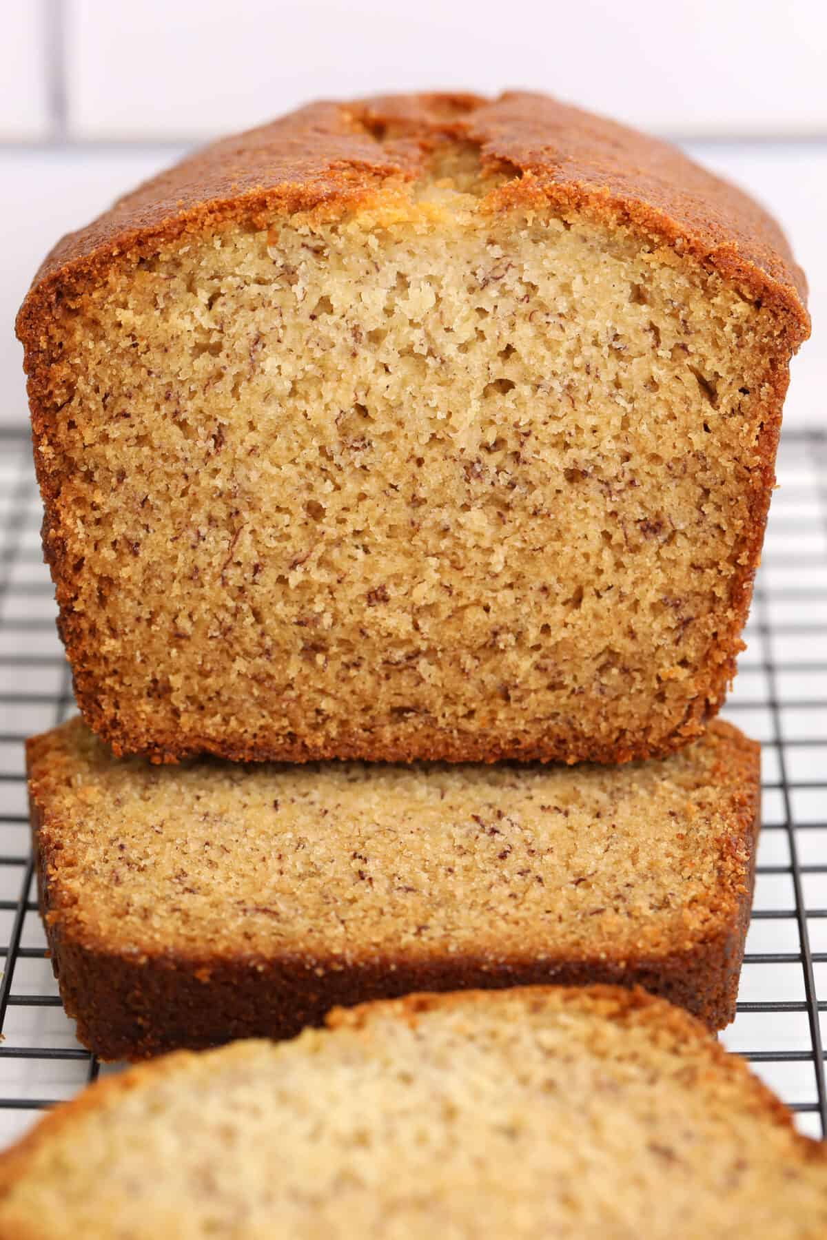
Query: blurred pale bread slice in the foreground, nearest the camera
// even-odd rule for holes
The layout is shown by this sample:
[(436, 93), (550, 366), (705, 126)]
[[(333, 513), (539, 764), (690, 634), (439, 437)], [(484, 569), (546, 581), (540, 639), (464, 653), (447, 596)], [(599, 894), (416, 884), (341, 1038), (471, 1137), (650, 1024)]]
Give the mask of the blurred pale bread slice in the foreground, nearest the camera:
[(803, 1240), (827, 1158), (686, 1013), (553, 987), (131, 1069), (0, 1161), (2, 1240)]

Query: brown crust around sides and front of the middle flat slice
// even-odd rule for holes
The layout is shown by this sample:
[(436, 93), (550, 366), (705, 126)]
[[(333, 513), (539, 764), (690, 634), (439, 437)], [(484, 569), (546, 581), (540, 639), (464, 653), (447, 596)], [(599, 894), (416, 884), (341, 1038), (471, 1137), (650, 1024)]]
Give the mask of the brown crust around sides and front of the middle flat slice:
[[(141, 1059), (177, 1048), (203, 1049), (236, 1038), (290, 1038), (320, 1024), (335, 1006), (388, 999), (414, 991), (502, 988), (527, 985), (643, 986), (699, 1017), (710, 1029), (727, 1025), (735, 996), (755, 874), (760, 821), (760, 750), (736, 728), (717, 720), (715, 765), (728, 823), (718, 841), (714, 899), (681, 941), (641, 928), (635, 957), (613, 955), (600, 942), (591, 959), (548, 959), (547, 942), (526, 945), (522, 959), (360, 954), (347, 960), (295, 952), (222, 954), (198, 957), (161, 950), (114, 947), (60, 885), (61, 831), (50, 818), (55, 738), (27, 744), (30, 805), (40, 908), (52, 966), (79, 1040), (102, 1059)], [(712, 739), (712, 738), (710, 738)], [(538, 960), (542, 947), (542, 961)], [(620, 949), (619, 949), (620, 951)]]

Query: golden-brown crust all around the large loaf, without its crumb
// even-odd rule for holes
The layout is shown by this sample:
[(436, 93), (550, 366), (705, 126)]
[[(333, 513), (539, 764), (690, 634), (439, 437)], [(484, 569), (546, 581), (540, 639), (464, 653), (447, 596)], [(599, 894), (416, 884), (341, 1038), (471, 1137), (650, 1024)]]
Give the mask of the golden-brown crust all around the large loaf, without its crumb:
[[(619, 732), (596, 740), (577, 722), (546, 734), (506, 737), (485, 732), (440, 733), (418, 720), (399, 723), (392, 740), (353, 728), (334, 746), (309, 724), (303, 734), (216, 737), (148, 728), (100, 701), (99, 658), (73, 613), (74, 567), (61, 536), (62, 474), (51, 459), (50, 428), (57, 415), (50, 332), (62, 300), (104, 280), (114, 263), (130, 263), (186, 233), (203, 233), (259, 213), (298, 210), (341, 212), (365, 202), (388, 177), (413, 179), (440, 138), (479, 146), (482, 164), (518, 174), (491, 197), (491, 210), (549, 206), (609, 223), (631, 223), (682, 258), (714, 269), (750, 298), (771, 306), (779, 342), (766, 358), (760, 464), (749, 480), (750, 523), (733, 569), (728, 619), (694, 678), (686, 714), (667, 734)], [(546, 95), (512, 92), (496, 100), (465, 94), (394, 95), (350, 104), (316, 103), (273, 124), (197, 153), (126, 195), (98, 221), (60, 242), (38, 272), (19, 319), (45, 501), (43, 544), (61, 608), (60, 631), (74, 675), (76, 698), (89, 725), (117, 754), (140, 753), (176, 761), (212, 753), (234, 761), (307, 761), (326, 758), (408, 761), (620, 763), (665, 756), (717, 713), (735, 671), (740, 632), (751, 598), (775, 481), (774, 463), (787, 362), (808, 334), (806, 283), (772, 221), (751, 198), (686, 159), (679, 151), (610, 120)], [(60, 435), (57, 436), (60, 441)], [(45, 451), (41, 451), (41, 448)]]

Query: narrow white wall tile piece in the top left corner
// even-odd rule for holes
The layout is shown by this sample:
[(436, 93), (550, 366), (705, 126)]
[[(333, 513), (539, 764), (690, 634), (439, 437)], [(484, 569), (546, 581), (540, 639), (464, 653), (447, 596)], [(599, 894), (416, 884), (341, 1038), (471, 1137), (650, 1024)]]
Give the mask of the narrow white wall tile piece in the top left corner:
[(0, 141), (31, 141), (50, 133), (47, 9), (48, 0), (2, 5)]

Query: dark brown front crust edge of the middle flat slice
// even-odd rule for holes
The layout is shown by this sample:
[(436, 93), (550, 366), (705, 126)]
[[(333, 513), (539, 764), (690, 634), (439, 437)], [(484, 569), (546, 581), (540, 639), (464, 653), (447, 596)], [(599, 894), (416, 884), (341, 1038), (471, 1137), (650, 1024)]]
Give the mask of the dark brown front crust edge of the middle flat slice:
[(237, 1038), (293, 1038), (306, 1025), (322, 1024), (334, 1007), (402, 998), (422, 990), (641, 986), (718, 1030), (735, 1014), (743, 956), (743, 947), (730, 942), (729, 954), (715, 944), (658, 961), (399, 960), (343, 970), (331, 963), (326, 970), (290, 960), (141, 962), (55, 940), (50, 936), (50, 950), (66, 1012), (77, 1022), (78, 1040), (103, 1060), (202, 1050)]

